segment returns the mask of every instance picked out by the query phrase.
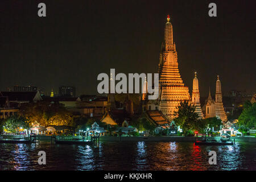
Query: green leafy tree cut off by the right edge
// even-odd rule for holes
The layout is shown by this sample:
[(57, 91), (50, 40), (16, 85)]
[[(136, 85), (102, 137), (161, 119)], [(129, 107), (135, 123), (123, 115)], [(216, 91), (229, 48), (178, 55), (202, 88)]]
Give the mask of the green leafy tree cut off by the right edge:
[(245, 102), (243, 111), (238, 118), (238, 125), (248, 129), (256, 127), (256, 102), (254, 104), (251, 104), (250, 101)]

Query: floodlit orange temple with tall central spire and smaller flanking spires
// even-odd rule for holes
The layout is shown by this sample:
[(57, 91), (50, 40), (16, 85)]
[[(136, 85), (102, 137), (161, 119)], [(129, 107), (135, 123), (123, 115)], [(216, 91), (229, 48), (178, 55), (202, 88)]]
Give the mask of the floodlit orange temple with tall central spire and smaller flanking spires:
[[(199, 115), (199, 118), (218, 117), (222, 121), (226, 121), (227, 117), (222, 104), (221, 82), (219, 78), (216, 82), (216, 100), (214, 101), (209, 94), (206, 101), (207, 106), (204, 106), (205, 114), (200, 105), (199, 80), (196, 72), (193, 78), (191, 96), (188, 87), (184, 85), (179, 73), (177, 52), (169, 15), (167, 16), (167, 22), (164, 28), (164, 42), (162, 43), (162, 50), (160, 52), (158, 72), (159, 98), (158, 100), (146, 101), (146, 95), (143, 94), (142, 111), (160, 110), (164, 117), (171, 121), (174, 119), (174, 112), (177, 111), (176, 107), (179, 106), (180, 102), (188, 101), (189, 104), (196, 107), (195, 112)], [(143, 88), (143, 90), (145, 90), (145, 88)]]

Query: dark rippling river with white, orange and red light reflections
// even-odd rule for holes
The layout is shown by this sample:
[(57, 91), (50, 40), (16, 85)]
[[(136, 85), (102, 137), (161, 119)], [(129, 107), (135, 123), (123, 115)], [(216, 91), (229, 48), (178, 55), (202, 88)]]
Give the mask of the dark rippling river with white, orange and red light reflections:
[[(46, 165), (38, 152), (46, 151)], [(210, 165), (209, 151), (217, 165)], [(0, 144), (1, 170), (256, 170), (256, 144), (195, 146), (192, 142), (100, 142), (98, 146)]]

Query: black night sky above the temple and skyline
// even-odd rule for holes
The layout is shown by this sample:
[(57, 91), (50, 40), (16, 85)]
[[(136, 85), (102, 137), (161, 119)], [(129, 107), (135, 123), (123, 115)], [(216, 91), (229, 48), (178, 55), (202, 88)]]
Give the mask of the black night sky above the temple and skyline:
[[(38, 17), (38, 3), (47, 17)], [(210, 2), (217, 18), (208, 16)], [(0, 90), (35, 85), (57, 92), (74, 85), (96, 94), (97, 75), (157, 73), (166, 15), (171, 15), (179, 69), (201, 96), (256, 91), (255, 1), (3, 1), (0, 2)]]

